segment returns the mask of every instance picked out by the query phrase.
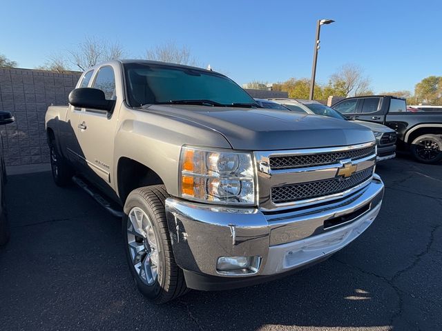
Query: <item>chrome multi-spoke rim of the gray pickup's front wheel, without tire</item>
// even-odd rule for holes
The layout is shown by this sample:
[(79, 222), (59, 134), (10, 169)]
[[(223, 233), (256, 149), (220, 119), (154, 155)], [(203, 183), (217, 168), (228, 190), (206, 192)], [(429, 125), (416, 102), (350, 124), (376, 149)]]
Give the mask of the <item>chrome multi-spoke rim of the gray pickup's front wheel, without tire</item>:
[(127, 242), (135, 272), (152, 285), (158, 277), (160, 255), (152, 221), (141, 208), (134, 207), (128, 214)]

